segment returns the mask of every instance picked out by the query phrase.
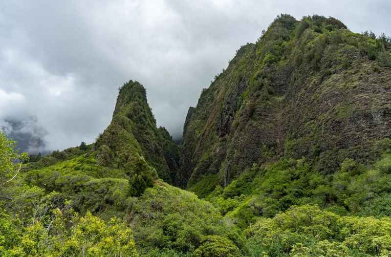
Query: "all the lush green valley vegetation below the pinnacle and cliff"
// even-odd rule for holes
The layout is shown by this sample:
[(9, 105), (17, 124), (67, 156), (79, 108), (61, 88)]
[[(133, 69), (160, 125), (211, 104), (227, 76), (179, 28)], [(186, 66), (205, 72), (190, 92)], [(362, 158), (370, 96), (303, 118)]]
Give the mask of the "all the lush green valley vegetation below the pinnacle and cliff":
[(282, 158), (204, 200), (161, 180), (131, 196), (130, 177), (99, 171), (88, 149), (29, 170), (38, 163), (24, 164), (13, 146), (0, 134), (1, 256), (391, 254), (389, 139), (376, 145), (372, 165), (347, 158), (324, 175), (305, 159)]

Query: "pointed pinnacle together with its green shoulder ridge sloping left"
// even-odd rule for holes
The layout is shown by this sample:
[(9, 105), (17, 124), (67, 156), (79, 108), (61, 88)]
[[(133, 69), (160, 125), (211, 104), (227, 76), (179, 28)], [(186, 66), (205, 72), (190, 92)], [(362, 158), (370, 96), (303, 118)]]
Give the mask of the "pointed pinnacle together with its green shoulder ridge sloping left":
[(58, 192), (75, 211), (109, 218), (126, 215), (126, 199), (153, 180), (173, 183), (178, 148), (156, 122), (146, 90), (130, 81), (119, 90), (112, 121), (93, 145), (54, 151), (23, 170), (24, 180)]

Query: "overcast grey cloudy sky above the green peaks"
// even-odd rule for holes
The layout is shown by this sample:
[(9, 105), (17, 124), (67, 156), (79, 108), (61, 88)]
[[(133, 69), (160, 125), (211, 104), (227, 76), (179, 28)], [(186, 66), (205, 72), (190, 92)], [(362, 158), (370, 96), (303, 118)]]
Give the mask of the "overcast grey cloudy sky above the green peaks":
[(389, 0), (2, 0), (0, 127), (34, 117), (48, 150), (92, 143), (132, 79), (180, 137), (201, 89), (281, 13), (391, 35)]

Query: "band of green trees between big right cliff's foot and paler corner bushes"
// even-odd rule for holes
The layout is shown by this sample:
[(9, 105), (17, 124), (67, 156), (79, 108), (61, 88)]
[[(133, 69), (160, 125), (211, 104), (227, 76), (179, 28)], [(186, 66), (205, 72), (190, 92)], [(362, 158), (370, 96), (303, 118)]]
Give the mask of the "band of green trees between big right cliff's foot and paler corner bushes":
[(389, 214), (390, 176), (390, 154), (383, 154), (372, 167), (346, 158), (332, 174), (317, 172), (305, 159), (282, 158), (267, 167), (255, 165), (206, 198), (240, 228), (259, 217), (273, 217), (292, 205), (304, 204), (317, 204), (339, 214), (380, 217)]

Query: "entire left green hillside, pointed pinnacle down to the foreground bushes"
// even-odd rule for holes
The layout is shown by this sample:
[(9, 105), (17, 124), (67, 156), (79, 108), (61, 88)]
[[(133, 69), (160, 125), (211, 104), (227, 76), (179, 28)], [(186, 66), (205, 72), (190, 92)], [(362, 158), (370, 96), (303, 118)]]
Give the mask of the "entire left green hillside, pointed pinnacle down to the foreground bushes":
[[(5, 151), (12, 144), (0, 135), (0, 157), (14, 167)], [(175, 183), (178, 158), (168, 131), (156, 128), (145, 88), (130, 81), (94, 144), (35, 157), (0, 188), (0, 255), (188, 256), (210, 244), (241, 255), (236, 225), (161, 180)]]

